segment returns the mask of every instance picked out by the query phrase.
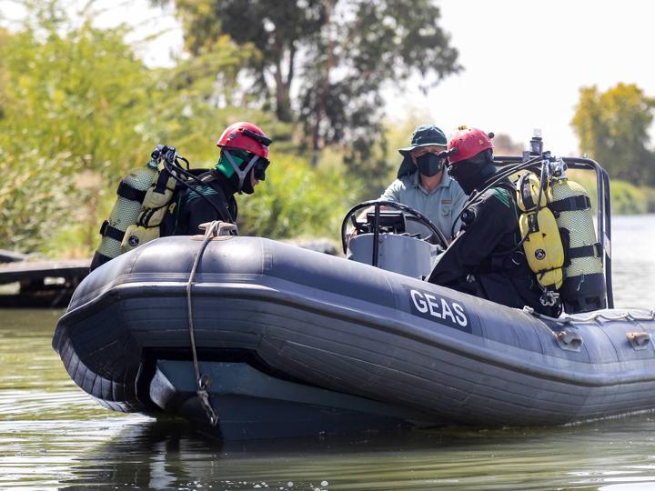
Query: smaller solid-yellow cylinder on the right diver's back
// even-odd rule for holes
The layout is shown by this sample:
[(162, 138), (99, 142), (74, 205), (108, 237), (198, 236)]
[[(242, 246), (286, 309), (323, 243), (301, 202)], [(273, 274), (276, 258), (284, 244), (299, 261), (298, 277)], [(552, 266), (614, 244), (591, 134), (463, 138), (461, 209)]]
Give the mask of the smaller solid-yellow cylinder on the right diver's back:
[[(564, 247), (555, 216), (547, 207), (549, 193), (549, 188), (543, 189), (539, 177), (534, 173), (526, 172), (520, 176), (517, 183), (517, 205), (523, 212), (519, 216), (523, 251), (539, 286), (553, 291), (562, 286)], [(553, 305), (555, 298), (550, 297)]]

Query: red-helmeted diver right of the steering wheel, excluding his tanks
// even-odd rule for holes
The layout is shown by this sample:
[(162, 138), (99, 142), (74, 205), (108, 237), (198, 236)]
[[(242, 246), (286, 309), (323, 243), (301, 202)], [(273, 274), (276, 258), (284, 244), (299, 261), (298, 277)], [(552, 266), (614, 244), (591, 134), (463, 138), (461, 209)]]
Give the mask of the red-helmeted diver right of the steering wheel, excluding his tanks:
[[(497, 174), (493, 147), (489, 135), (463, 126), (448, 142), (448, 174), (468, 195), (483, 189)], [(462, 232), (438, 258), (428, 281), (557, 317), (560, 304), (540, 302), (542, 291), (521, 248), (515, 190), (508, 178), (500, 179), (465, 205)]]

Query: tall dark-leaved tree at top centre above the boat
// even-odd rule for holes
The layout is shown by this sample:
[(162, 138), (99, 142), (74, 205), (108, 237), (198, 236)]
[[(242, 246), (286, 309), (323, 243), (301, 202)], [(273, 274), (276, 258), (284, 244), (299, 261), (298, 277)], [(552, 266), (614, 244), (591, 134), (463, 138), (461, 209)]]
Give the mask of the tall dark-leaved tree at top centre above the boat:
[(315, 161), (323, 145), (346, 144), (347, 161), (365, 175), (380, 174), (375, 148), (384, 144), (382, 88), (414, 74), (427, 87), (460, 69), (430, 0), (175, 4), (192, 54), (218, 35), (254, 45), (261, 56), (248, 71), (264, 106), (274, 101), (280, 120), (300, 122)]

